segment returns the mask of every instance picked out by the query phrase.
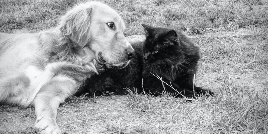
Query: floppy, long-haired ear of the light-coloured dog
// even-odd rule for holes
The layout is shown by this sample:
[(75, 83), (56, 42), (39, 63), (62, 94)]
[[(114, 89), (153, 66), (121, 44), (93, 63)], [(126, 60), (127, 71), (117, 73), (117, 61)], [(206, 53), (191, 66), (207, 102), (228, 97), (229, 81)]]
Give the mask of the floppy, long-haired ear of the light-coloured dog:
[(63, 16), (59, 24), (63, 36), (71, 39), (81, 48), (88, 42), (92, 10), (92, 7), (74, 8)]

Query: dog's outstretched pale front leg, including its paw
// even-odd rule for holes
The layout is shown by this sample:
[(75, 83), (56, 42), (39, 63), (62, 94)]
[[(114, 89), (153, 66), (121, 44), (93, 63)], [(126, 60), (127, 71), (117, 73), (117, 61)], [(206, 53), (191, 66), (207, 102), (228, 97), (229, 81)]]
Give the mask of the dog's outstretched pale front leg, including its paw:
[(33, 128), (37, 133), (61, 133), (56, 123), (57, 109), (74, 93), (76, 86), (76, 82), (70, 78), (54, 77), (40, 88), (34, 100), (37, 119)]

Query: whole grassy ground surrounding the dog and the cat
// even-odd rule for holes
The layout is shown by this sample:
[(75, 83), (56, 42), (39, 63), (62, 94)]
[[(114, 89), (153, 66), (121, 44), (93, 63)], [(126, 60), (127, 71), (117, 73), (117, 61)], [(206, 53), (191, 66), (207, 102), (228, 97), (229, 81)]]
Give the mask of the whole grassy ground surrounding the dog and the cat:
[[(125, 36), (141, 24), (181, 30), (201, 49), (194, 83), (215, 95), (183, 98), (128, 94), (71, 96), (58, 109), (65, 134), (268, 133), (267, 0), (101, 0), (124, 19)], [(0, 32), (55, 27), (76, 0), (0, 0)], [(213, 35), (253, 31), (250, 36)], [(256, 32), (258, 31), (258, 32)], [(209, 36), (208, 36), (209, 35)], [(35, 133), (33, 107), (0, 106), (0, 133)]]

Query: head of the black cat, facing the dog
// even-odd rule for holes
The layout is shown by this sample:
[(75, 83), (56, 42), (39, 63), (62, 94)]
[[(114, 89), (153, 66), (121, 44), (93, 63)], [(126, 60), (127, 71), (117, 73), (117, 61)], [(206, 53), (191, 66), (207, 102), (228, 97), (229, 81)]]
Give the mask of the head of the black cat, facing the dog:
[(143, 46), (144, 60), (153, 64), (176, 64), (180, 61), (180, 39), (173, 29), (142, 24), (146, 33)]

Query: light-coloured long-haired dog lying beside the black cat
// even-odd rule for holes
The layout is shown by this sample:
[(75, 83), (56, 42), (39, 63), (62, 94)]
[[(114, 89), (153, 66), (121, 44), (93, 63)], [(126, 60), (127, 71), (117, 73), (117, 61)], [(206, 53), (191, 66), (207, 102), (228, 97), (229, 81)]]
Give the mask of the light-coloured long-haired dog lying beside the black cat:
[(78, 4), (53, 29), (0, 33), (0, 103), (35, 107), (37, 133), (61, 133), (57, 108), (99, 66), (124, 68), (135, 55), (109, 6)]

